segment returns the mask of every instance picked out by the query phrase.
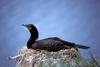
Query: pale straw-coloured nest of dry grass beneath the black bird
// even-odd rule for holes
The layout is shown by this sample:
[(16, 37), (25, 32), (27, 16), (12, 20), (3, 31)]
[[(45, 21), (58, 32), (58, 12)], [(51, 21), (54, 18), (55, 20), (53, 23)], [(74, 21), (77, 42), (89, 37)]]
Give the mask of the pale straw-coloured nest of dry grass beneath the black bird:
[(48, 52), (45, 50), (33, 50), (22, 48), (18, 55), (9, 59), (16, 60), (16, 67), (54, 67), (56, 64), (75, 64), (74, 61), (80, 58), (80, 53), (74, 49), (65, 49), (58, 52)]

